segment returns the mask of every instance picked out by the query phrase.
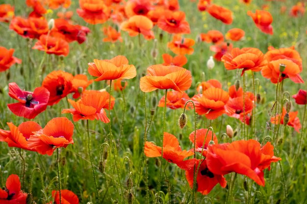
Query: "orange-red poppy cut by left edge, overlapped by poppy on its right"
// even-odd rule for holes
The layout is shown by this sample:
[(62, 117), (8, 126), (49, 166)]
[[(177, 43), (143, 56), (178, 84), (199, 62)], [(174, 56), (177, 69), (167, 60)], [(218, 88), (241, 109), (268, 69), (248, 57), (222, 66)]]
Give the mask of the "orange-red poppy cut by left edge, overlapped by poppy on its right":
[(7, 123), (9, 131), (0, 129), (0, 141), (7, 142), (9, 147), (18, 147), (21, 149), (35, 151), (32, 148), (28, 148), (27, 139), (34, 135), (32, 132), (36, 132), (42, 129), (42, 127), (34, 121), (26, 121), (21, 123), (18, 127), (13, 123)]

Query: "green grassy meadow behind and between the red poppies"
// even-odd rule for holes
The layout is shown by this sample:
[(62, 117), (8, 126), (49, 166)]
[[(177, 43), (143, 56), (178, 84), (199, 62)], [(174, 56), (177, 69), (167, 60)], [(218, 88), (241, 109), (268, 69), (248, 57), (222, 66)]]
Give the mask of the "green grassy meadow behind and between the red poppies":
[[(24, 0), (0, 0), (0, 4), (2, 3), (13, 5), (15, 16), (27, 17), (33, 10), (26, 6)], [(94, 62), (94, 59), (111, 59), (118, 55), (124, 55), (129, 65), (134, 65), (136, 76), (125, 80), (127, 87), (124, 91), (111, 89), (111, 95), (115, 98), (114, 108), (110, 113), (105, 109), (106, 115), (110, 116), (110, 127), (108, 123), (97, 119), (74, 122), (71, 114), (61, 113), (63, 109), (73, 108), (67, 101), (67, 99), (73, 99), (73, 94), (62, 98), (55, 105), (48, 106), (46, 111), (30, 119), (40, 124), (41, 127), (45, 127), (48, 121), (55, 117), (67, 117), (73, 122), (74, 144), (69, 144), (67, 148), (58, 148), (58, 155), (56, 151), (52, 156), (42, 155), (17, 147), (8, 147), (6, 142), (0, 142), (0, 187), (5, 187), (5, 181), (9, 175), (17, 174), (22, 183), (21, 189), (28, 195), (31, 194), (28, 196), (28, 203), (53, 203), (51, 192), (58, 190), (59, 170), (61, 189), (73, 191), (80, 204), (97, 204), (98, 199), (99, 203), (103, 204), (306, 203), (307, 139), (305, 137), (307, 128), (306, 118), (304, 118), (306, 105), (298, 105), (292, 98), (292, 95), (296, 94), (299, 89), (306, 90), (306, 84), (296, 84), (289, 78), (284, 79), (282, 83), (279, 83), (281, 89), (278, 91), (279, 98), (277, 99), (277, 85), (264, 78), (261, 72), (246, 71), (244, 82), (241, 76), (242, 69), (227, 70), (223, 62), (215, 60), (214, 68), (208, 69), (207, 60), (215, 54), (210, 50), (213, 44), (202, 42), (199, 35), (209, 30), (219, 30), (225, 35), (229, 29), (236, 27), (245, 31), (245, 37), (236, 42), (228, 40), (227, 42), (233, 47), (255, 47), (266, 53), (269, 46), (275, 48), (294, 46), (303, 59), (303, 71), (300, 75), (303, 80), (306, 80), (307, 15), (298, 17), (289, 15), (291, 7), (296, 5), (297, 1), (253, 0), (245, 4), (240, 0), (214, 0), (212, 3), (229, 8), (233, 12), (233, 23), (225, 24), (207, 12), (200, 12), (197, 3), (190, 0), (179, 0), (180, 10), (185, 12), (186, 21), (191, 29), (190, 34), (184, 34), (184, 37), (195, 40), (195, 45), (192, 46), (193, 54), (185, 55), (187, 63), (183, 68), (192, 74), (192, 85), (185, 92), (189, 97), (193, 97), (198, 93), (196, 88), (200, 82), (210, 79), (218, 80), (224, 91), (228, 91), (231, 85), (239, 81), (240, 86), (244, 86), (246, 91), (253, 92), (254, 77), (255, 95), (259, 95), (260, 100), (259, 103), (255, 101), (256, 108), (251, 125), (244, 124), (227, 114), (214, 120), (197, 114), (196, 129), (212, 127), (218, 143), (247, 138), (256, 139), (262, 145), (270, 141), (274, 146), (274, 155), (280, 157), (281, 160), (272, 162), (270, 171), (264, 170), (265, 186), (258, 185), (247, 176), (232, 172), (225, 175), (227, 181), (225, 188), (218, 184), (209, 194), (202, 195), (200, 192), (193, 192), (186, 180), (185, 171), (178, 165), (161, 159), (161, 156), (147, 158), (144, 154), (144, 138), (161, 146), (163, 128), (165, 132), (178, 138), (182, 149), (194, 148), (193, 143), (189, 140), (189, 135), (194, 131), (194, 111), (191, 109), (185, 111), (187, 123), (183, 129), (180, 129), (178, 120), (183, 109), (166, 108), (164, 114), (164, 108), (157, 107), (165, 90), (158, 89), (146, 93), (140, 90), (140, 79), (147, 74), (146, 70), (149, 66), (163, 63), (162, 54), (164, 53), (175, 56), (167, 47), (167, 43), (172, 40), (173, 36), (154, 26), (152, 29), (154, 40), (146, 40), (141, 35), (131, 37), (127, 32), (121, 31), (123, 42), (102, 42), (102, 39), (106, 37), (102, 31), (103, 27), (110, 25), (118, 28), (119, 25), (113, 23), (111, 19), (101, 24), (86, 23), (76, 13), (76, 9), (80, 8), (79, 2), (72, 0), (69, 8), (48, 9), (43, 15), (49, 21), (58, 18), (57, 12), (59, 11), (73, 11), (71, 22), (90, 29), (84, 43), (69, 44), (70, 51), (65, 57), (32, 49), (37, 39), (23, 38), (14, 30), (9, 29), (9, 23), (0, 22), (0, 46), (7, 49), (14, 48), (13, 56), (22, 59), (21, 64), (15, 64), (0, 72), (0, 129), (9, 130), (7, 122), (18, 126), (22, 122), (29, 121), (29, 119), (15, 115), (7, 107), (7, 104), (17, 102), (8, 95), (8, 84), (11, 82), (17, 83), (22, 90), (33, 91), (36, 87), (41, 86), (43, 79), (53, 70), (63, 70), (74, 76), (85, 74), (88, 79), (95, 79), (96, 77), (91, 76), (88, 72), (88, 63)], [(261, 32), (253, 19), (247, 15), (248, 11), (262, 10), (264, 4), (265, 9), (273, 16), (273, 35)], [(282, 6), (286, 8), (283, 13), (281, 12)], [(110, 92), (107, 81), (95, 81), (88, 86), (87, 90)], [(270, 118), (275, 113), (280, 113), (281, 103), (284, 102), (284, 107), (286, 107), (287, 102), (284, 100), (286, 98), (291, 103), (290, 111), (298, 111), (297, 116), (302, 124), (300, 133), (288, 125), (274, 125), (270, 122)], [(276, 104), (274, 106), (275, 101), (278, 101), (277, 106)], [(162, 103), (164, 106), (164, 101)], [(225, 136), (227, 125), (233, 129), (232, 139)], [(90, 143), (88, 143), (88, 134)], [(88, 153), (89, 147), (91, 158)], [(189, 157), (191, 158), (193, 156)], [(201, 154), (197, 154), (196, 158), (201, 158)], [(57, 161), (59, 169), (57, 169)], [(160, 179), (160, 173), (162, 179)], [(0, 199), (0, 204), (1, 202)]]

